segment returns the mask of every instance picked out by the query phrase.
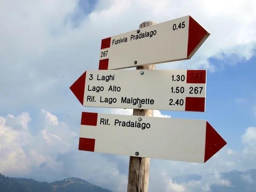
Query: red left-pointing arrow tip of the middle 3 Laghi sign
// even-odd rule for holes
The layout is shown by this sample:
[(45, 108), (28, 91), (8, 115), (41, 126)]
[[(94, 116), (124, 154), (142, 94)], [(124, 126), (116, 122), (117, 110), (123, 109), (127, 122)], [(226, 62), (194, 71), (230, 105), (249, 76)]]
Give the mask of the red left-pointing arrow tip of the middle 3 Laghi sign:
[(84, 87), (85, 87), (86, 71), (70, 86), (70, 90), (74, 93), (79, 102), (84, 103)]

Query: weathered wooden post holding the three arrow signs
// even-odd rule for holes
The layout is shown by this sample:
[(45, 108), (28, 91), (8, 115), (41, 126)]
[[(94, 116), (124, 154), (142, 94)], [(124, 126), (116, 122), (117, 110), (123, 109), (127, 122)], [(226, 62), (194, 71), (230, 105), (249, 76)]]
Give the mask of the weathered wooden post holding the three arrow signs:
[[(145, 21), (140, 28), (157, 24), (154, 21)], [(140, 62), (140, 61), (139, 61)], [(136, 67), (137, 70), (155, 70), (156, 65)], [(153, 116), (153, 110), (134, 109), (133, 115)], [(131, 141), (132, 142), (132, 141)], [(134, 151), (135, 153), (136, 151)], [(138, 151), (140, 153), (140, 151)], [(150, 158), (130, 157), (127, 192), (148, 192)]]

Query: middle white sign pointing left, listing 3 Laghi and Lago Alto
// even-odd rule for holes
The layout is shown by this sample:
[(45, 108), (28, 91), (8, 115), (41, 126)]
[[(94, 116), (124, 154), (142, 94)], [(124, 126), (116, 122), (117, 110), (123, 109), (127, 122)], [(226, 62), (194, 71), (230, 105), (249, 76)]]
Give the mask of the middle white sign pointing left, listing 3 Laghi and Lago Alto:
[(88, 70), (70, 90), (85, 107), (204, 112), (206, 70)]

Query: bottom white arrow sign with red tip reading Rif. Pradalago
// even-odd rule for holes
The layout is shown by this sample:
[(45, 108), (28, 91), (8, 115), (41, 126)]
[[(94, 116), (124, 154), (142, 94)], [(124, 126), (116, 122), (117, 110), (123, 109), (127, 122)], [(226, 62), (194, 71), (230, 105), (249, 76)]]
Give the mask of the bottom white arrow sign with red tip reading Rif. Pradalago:
[(82, 112), (79, 150), (205, 163), (227, 143), (206, 120)]

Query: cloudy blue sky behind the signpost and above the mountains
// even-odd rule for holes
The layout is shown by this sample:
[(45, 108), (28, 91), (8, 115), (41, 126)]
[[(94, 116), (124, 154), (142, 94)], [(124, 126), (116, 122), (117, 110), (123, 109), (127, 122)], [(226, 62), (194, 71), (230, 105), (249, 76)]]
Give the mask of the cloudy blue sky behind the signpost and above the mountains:
[[(128, 157), (78, 151), (79, 124), (82, 111), (132, 111), (83, 107), (69, 87), (84, 71), (97, 69), (103, 38), (137, 29), (145, 20), (185, 15), (211, 35), (190, 60), (157, 69), (206, 69), (206, 112), (154, 116), (206, 119), (227, 145), (205, 164), (152, 159), (149, 191), (205, 191), (205, 185), (228, 183), (220, 172), (256, 169), (255, 9), (255, 1), (244, 0), (1, 1), (0, 173), (42, 181), (81, 177), (125, 191)], [(172, 182), (175, 176), (207, 173), (217, 176), (193, 187)]]

